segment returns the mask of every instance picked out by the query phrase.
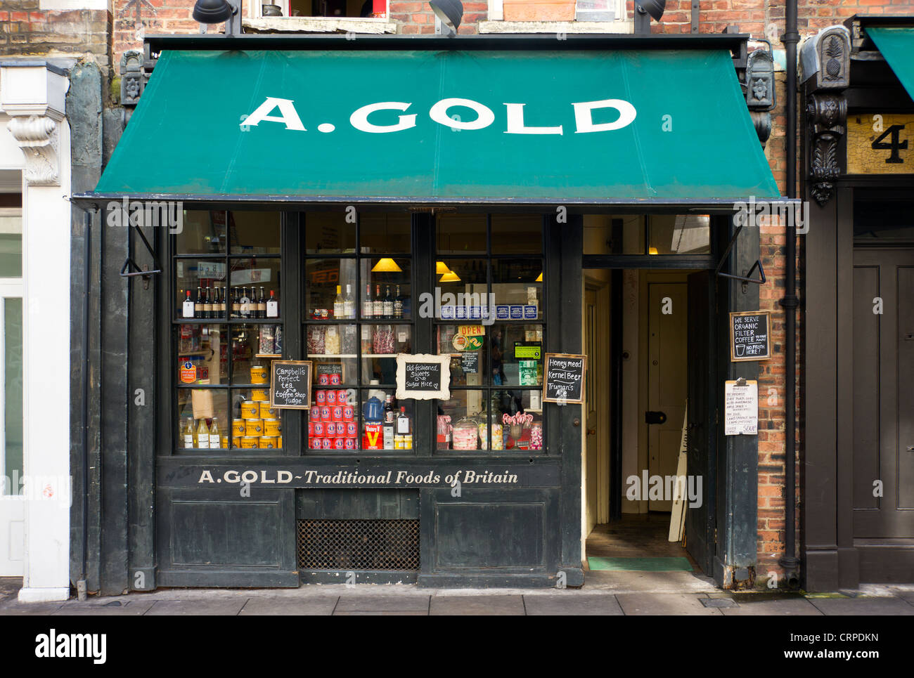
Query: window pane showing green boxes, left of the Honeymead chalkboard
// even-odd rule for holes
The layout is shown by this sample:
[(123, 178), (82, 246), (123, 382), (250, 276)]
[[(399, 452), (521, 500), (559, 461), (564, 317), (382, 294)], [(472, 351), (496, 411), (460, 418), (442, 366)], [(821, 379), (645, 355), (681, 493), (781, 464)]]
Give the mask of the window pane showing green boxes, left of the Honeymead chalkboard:
[(542, 325), (494, 324), (489, 328), (489, 336), (495, 386), (542, 385)]

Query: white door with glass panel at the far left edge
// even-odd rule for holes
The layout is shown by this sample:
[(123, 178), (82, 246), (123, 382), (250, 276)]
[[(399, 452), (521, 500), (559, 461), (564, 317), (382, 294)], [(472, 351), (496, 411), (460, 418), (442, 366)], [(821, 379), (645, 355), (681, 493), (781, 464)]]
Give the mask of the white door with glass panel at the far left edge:
[(25, 548), (22, 281), (0, 282), (0, 577), (21, 577)]

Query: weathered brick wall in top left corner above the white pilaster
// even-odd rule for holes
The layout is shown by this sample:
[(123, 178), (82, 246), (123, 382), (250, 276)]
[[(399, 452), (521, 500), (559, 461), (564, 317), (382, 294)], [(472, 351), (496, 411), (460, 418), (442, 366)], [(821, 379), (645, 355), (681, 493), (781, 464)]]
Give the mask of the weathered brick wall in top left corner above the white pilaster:
[(0, 56), (90, 58), (107, 72), (110, 35), (107, 10), (42, 10), (38, 0), (0, 3)]

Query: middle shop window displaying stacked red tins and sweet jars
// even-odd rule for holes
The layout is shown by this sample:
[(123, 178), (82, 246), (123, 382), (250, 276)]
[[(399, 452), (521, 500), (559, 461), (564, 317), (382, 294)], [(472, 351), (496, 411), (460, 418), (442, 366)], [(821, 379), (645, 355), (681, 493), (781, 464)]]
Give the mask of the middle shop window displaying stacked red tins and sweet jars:
[[(411, 219), (365, 213), (348, 221), (304, 215), (304, 337), (314, 363), (306, 447), (412, 449), (414, 401), (394, 399), (397, 354), (414, 353)], [(328, 224), (343, 228), (351, 247), (331, 238)]]

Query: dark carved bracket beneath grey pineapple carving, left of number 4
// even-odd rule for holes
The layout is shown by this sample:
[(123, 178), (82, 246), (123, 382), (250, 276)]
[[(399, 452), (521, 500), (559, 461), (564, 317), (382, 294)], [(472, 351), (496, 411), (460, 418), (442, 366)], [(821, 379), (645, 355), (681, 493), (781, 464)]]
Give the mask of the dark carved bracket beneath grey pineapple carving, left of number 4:
[(840, 173), (838, 142), (846, 132), (847, 101), (842, 94), (812, 94), (806, 102), (810, 130), (809, 178), (812, 194), (824, 205), (834, 193), (834, 180)]

